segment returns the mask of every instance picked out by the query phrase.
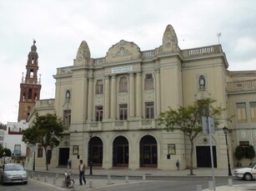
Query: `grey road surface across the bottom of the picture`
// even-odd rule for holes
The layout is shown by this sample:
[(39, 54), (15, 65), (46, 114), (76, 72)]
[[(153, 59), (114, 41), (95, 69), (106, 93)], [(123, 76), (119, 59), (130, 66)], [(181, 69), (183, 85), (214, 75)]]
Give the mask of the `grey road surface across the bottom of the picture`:
[[(98, 190), (98, 191), (193, 191), (196, 190), (197, 185), (202, 185), (203, 189), (208, 189), (208, 181), (212, 181), (210, 178), (150, 178), (147, 177), (146, 180), (141, 178), (129, 178), (125, 181), (123, 177), (113, 177), (111, 180), (112, 184), (108, 184), (108, 179), (106, 177), (87, 177), (88, 184), (89, 181), (93, 181), (93, 189), (89, 189), (88, 184), (84, 186), (78, 186), (78, 177), (73, 177), (76, 181), (75, 190)], [(50, 176), (48, 179), (52, 179)], [(59, 181), (62, 180), (59, 178)], [(228, 178), (216, 178), (216, 186), (227, 185)], [(59, 182), (60, 183), (60, 182)], [(233, 184), (255, 184), (255, 181), (244, 181), (233, 179)], [(29, 179), (28, 184), (8, 184), (1, 185), (0, 190), (2, 191), (60, 191), (60, 190), (72, 190), (65, 189), (61, 184), (53, 185), (50, 181), (45, 183), (43, 179)]]

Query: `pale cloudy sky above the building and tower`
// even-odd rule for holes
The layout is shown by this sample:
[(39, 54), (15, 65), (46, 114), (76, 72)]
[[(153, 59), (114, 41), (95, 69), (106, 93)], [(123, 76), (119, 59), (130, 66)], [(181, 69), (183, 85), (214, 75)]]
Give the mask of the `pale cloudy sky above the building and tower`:
[[(38, 47), (41, 99), (54, 98), (58, 67), (72, 66), (82, 41), (93, 58), (120, 40), (141, 51), (162, 44), (171, 24), (181, 49), (219, 43), (228, 70), (256, 70), (254, 0), (2, 0), (0, 1), (0, 122), (18, 120), (22, 72), (33, 39)], [(221, 32), (221, 37), (217, 33)]]

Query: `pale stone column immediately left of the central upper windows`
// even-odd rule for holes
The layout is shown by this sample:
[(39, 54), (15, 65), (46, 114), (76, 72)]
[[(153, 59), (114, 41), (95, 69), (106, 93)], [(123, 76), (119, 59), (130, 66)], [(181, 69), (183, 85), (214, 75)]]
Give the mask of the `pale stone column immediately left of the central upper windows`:
[(117, 80), (116, 80), (116, 76), (112, 76), (111, 77), (111, 100), (110, 100), (110, 104), (111, 104), (111, 112), (110, 112), (110, 117), (113, 120), (116, 120), (117, 117)]

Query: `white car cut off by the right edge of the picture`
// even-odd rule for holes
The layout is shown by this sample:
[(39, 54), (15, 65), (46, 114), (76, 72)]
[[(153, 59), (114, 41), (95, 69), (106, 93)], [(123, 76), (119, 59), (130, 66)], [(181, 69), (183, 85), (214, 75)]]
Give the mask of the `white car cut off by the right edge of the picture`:
[(245, 168), (239, 168), (234, 170), (234, 176), (237, 178), (251, 180), (256, 177), (256, 164), (251, 164)]

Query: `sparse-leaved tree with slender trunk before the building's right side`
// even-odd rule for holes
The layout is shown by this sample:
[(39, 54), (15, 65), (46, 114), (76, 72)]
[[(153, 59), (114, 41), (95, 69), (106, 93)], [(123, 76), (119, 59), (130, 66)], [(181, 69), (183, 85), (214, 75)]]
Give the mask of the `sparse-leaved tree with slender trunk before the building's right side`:
[(190, 175), (193, 175), (193, 140), (203, 130), (202, 116), (211, 116), (214, 118), (214, 125), (218, 126), (220, 117), (223, 113), (221, 106), (213, 106), (216, 100), (203, 99), (194, 101), (193, 105), (179, 106), (177, 110), (169, 108), (161, 112), (158, 121), (159, 125), (164, 126), (164, 130), (180, 130), (188, 136), (191, 144), (190, 149)]

